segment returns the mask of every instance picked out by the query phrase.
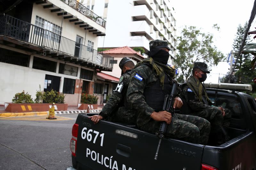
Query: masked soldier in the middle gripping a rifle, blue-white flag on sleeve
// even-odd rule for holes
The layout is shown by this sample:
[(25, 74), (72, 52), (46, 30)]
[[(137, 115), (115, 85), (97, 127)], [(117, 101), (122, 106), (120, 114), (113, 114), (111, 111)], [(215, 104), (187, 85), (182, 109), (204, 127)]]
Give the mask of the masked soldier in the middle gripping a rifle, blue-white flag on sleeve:
[[(175, 70), (167, 66), (169, 50), (166, 41), (154, 40), (149, 42), (150, 57), (137, 63), (132, 70), (130, 84), (127, 90), (127, 100), (138, 115), (137, 126), (151, 133), (159, 132), (161, 122), (168, 126), (165, 137), (172, 137), (192, 143), (206, 144), (210, 133), (210, 123), (200, 117), (180, 115), (172, 118), (171, 113), (163, 110), (164, 98), (170, 94), (172, 84), (176, 83)], [(180, 108), (181, 92), (174, 98), (174, 108)]]

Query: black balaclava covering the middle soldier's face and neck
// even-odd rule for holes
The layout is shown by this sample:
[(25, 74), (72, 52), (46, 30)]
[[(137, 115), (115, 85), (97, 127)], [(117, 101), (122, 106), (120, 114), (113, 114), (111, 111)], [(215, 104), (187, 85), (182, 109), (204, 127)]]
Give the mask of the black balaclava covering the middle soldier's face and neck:
[(148, 55), (153, 58), (156, 62), (167, 64), (169, 59), (169, 52), (163, 49), (152, 49), (148, 51)]

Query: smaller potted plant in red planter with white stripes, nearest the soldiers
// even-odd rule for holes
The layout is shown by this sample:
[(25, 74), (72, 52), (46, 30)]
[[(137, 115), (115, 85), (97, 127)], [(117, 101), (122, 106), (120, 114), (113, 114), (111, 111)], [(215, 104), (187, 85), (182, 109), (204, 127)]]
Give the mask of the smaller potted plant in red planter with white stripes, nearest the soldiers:
[(81, 103), (78, 103), (78, 109), (80, 110), (87, 110), (88, 106), (89, 109), (98, 109), (98, 97), (87, 94), (87, 93), (82, 93), (81, 95)]

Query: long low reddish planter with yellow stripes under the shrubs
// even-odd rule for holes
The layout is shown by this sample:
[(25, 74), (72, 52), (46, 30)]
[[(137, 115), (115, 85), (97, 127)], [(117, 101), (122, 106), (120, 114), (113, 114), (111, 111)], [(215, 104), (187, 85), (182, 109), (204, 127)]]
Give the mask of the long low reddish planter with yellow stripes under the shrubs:
[[(68, 104), (54, 104), (56, 111), (68, 110)], [(51, 103), (4, 103), (5, 111), (11, 113), (45, 112), (52, 107)]]

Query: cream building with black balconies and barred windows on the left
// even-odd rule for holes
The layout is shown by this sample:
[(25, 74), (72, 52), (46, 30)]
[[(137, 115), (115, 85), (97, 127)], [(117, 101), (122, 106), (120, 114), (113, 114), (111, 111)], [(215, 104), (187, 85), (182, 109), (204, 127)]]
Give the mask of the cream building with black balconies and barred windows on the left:
[(0, 105), (22, 90), (35, 99), (39, 86), (63, 92), (70, 106), (81, 93), (94, 94), (97, 72), (113, 68), (113, 57), (97, 51), (105, 27), (76, 0), (23, 0), (7, 10), (0, 16)]

